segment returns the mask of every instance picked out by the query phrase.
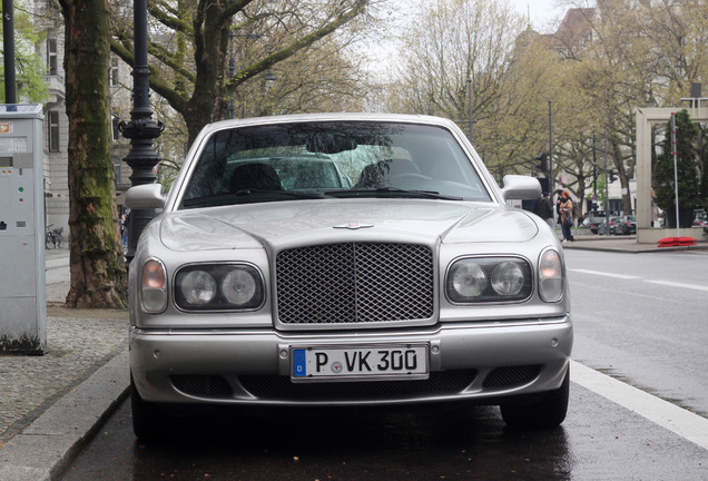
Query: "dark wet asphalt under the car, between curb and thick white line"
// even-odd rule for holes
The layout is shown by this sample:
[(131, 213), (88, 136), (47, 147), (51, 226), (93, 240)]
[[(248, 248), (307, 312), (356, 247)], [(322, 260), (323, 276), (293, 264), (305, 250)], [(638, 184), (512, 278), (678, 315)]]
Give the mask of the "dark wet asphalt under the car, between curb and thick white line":
[(566, 422), (508, 429), (496, 408), (230, 410), (137, 441), (125, 403), (62, 481), (704, 480), (708, 451), (572, 384)]

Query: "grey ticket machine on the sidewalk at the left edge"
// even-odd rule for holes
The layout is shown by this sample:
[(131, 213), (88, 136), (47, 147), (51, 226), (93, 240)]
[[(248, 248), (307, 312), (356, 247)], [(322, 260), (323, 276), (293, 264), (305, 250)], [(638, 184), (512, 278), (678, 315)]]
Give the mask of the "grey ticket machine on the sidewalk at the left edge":
[(0, 104), (0, 353), (47, 349), (42, 118)]

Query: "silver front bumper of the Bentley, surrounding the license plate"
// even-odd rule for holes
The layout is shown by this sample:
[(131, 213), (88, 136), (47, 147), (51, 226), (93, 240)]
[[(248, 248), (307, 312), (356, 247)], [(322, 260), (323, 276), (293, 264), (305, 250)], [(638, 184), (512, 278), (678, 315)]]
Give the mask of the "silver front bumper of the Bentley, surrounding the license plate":
[[(480, 403), (558, 389), (572, 349), (570, 316), (454, 323), (386, 332), (130, 331), (140, 396), (165, 403), (272, 405)], [(427, 380), (291, 382), (292, 346), (429, 346)]]

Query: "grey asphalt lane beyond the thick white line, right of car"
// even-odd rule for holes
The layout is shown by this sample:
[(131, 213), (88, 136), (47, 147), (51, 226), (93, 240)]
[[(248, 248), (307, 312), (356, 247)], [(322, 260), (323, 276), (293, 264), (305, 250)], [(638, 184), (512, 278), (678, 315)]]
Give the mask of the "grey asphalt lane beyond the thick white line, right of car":
[(566, 258), (573, 359), (708, 418), (708, 252)]

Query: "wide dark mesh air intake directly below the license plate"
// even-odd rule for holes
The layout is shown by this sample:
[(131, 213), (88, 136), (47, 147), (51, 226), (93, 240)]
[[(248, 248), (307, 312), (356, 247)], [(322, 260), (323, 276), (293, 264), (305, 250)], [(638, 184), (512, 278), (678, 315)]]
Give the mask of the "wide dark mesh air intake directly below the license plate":
[(262, 400), (351, 401), (401, 395), (458, 393), (476, 376), (475, 370), (431, 373), (427, 380), (338, 383), (293, 383), (286, 376), (242, 375), (242, 386)]

